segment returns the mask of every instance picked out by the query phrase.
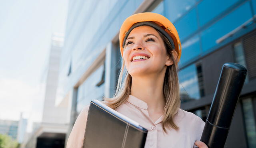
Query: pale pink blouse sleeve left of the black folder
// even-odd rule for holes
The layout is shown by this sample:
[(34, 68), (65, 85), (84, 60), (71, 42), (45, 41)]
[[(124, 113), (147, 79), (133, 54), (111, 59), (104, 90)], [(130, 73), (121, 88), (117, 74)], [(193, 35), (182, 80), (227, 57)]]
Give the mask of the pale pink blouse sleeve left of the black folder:
[(67, 148), (82, 148), (84, 142), (84, 132), (86, 127), (89, 105), (84, 107), (76, 118), (76, 122), (68, 137)]

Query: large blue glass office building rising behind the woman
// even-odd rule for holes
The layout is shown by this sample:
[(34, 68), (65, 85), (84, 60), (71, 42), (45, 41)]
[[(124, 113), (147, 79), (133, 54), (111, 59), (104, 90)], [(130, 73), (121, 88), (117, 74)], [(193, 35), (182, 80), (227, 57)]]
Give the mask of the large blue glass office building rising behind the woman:
[(58, 88), (71, 102), (70, 129), (91, 100), (114, 95), (119, 29), (139, 12), (162, 14), (178, 30), (181, 107), (204, 121), (222, 65), (247, 67), (226, 147), (256, 147), (256, 0), (70, 0)]

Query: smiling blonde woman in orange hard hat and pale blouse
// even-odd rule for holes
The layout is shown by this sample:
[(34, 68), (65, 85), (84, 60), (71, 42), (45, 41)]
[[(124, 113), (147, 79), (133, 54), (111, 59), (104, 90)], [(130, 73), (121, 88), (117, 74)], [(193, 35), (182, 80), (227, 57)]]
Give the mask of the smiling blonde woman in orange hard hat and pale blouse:
[[(145, 148), (207, 148), (198, 141), (204, 122), (180, 109), (181, 45), (172, 23), (160, 14), (134, 14), (122, 24), (119, 39), (123, 64), (118, 88), (104, 103), (148, 129)], [(82, 146), (87, 113), (88, 106), (74, 124), (68, 148)]]

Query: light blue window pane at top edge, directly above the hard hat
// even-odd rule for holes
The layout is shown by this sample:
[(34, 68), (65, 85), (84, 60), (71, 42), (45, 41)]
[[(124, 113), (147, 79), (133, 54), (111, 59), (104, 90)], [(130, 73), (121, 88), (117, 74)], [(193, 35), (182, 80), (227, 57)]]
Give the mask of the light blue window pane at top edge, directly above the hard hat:
[(196, 4), (196, 0), (164, 0), (166, 17), (174, 22)]

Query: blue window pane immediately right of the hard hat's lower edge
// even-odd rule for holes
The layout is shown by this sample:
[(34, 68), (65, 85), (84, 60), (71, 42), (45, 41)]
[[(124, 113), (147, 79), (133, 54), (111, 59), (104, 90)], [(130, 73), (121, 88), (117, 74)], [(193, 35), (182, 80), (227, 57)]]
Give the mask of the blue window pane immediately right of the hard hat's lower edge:
[(182, 54), (181, 54), (181, 63), (186, 63), (190, 59), (195, 58), (200, 54), (200, 43), (199, 36), (192, 37), (188, 41), (182, 43)]

